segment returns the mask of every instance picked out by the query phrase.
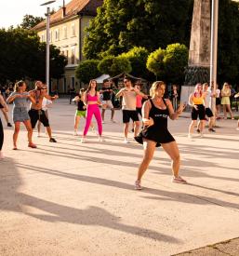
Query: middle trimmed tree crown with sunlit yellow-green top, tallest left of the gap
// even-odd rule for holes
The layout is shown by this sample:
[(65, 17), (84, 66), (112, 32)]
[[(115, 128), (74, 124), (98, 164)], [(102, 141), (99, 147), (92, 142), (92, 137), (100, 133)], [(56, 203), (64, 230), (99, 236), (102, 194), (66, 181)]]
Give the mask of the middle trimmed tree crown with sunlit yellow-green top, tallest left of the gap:
[(120, 56), (125, 57), (130, 61), (132, 66), (132, 75), (148, 78), (150, 74), (146, 69), (146, 61), (149, 54), (149, 51), (145, 47), (133, 47), (128, 52), (122, 53)]

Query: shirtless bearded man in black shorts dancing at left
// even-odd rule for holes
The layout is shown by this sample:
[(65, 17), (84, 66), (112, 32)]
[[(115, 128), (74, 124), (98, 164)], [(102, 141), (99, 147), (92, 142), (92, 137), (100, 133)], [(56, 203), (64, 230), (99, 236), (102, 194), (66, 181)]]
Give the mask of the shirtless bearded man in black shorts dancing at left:
[(49, 141), (57, 142), (54, 138), (51, 137), (51, 128), (49, 126), (49, 121), (48, 121), (48, 118), (46, 117), (46, 113), (42, 109), (42, 103), (43, 103), (44, 97), (47, 100), (55, 101), (59, 98), (58, 95), (55, 95), (54, 97), (49, 96), (47, 94), (46, 85), (44, 85), (41, 81), (36, 81), (35, 89), (31, 90), (29, 93), (35, 100), (35, 103), (31, 104), (30, 111), (28, 112), (31, 118), (32, 128), (35, 128), (35, 125), (39, 120), (44, 125), (44, 127), (46, 127), (46, 131), (49, 136)]

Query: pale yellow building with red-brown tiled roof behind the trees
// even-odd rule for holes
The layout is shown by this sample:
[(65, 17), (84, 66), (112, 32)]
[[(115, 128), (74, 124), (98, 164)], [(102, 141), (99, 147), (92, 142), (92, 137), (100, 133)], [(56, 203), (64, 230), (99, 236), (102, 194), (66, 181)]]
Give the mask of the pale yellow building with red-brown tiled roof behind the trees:
[[(73, 0), (50, 16), (50, 44), (58, 47), (68, 60), (63, 78), (51, 80), (51, 90), (58, 89), (60, 93), (66, 93), (70, 88), (80, 88), (74, 71), (79, 62), (84, 60), (82, 48), (85, 29), (102, 3), (103, 0)], [(37, 24), (33, 30), (41, 42), (46, 42), (46, 20)]]

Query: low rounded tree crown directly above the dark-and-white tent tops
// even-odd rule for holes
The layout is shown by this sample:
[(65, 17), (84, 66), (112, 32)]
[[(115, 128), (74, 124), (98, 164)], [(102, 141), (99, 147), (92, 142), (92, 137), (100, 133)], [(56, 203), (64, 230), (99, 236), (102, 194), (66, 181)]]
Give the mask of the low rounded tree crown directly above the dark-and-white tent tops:
[(132, 71), (130, 61), (122, 56), (108, 56), (104, 58), (100, 61), (98, 69), (102, 74), (110, 74), (111, 76)]

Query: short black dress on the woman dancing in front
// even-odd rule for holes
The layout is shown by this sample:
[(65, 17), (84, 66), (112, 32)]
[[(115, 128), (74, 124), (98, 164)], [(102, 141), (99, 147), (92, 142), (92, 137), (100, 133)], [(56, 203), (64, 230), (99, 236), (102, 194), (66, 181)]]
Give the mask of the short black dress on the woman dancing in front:
[[(143, 143), (143, 139), (156, 142), (156, 147), (161, 146), (161, 143), (168, 143), (175, 141), (171, 133), (167, 129), (167, 117), (169, 115), (168, 109), (159, 109), (154, 106), (151, 101), (152, 108), (150, 110), (149, 117), (153, 119), (153, 126), (149, 128), (143, 128), (139, 133), (139, 136), (135, 137), (135, 140), (139, 143)], [(166, 101), (163, 99), (165, 105)]]

